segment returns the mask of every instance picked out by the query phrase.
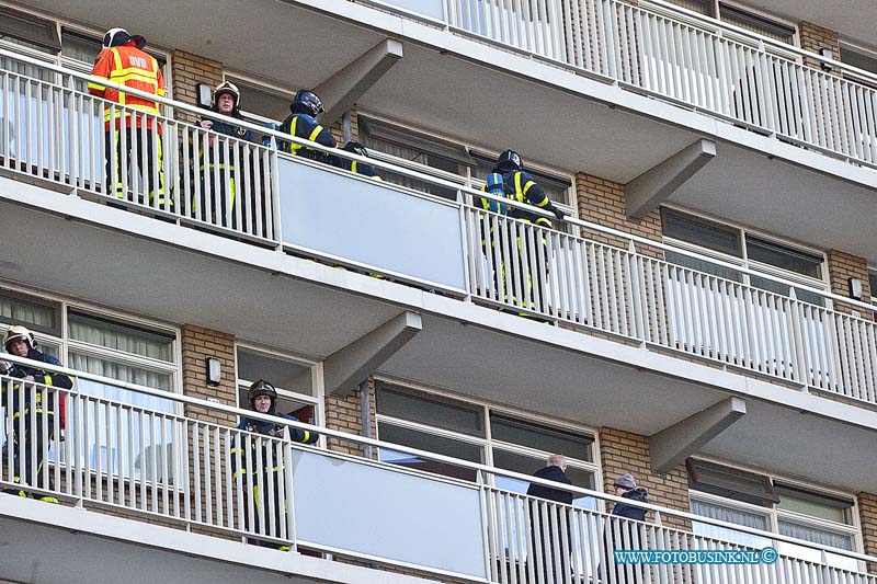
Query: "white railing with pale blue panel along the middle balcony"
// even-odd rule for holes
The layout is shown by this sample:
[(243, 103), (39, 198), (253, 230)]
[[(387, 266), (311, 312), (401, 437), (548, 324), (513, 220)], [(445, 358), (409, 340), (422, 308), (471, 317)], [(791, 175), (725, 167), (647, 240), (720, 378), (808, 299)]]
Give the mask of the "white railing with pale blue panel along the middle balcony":
[[(867, 320), (874, 311), (869, 305), (812, 288), (807, 291), (827, 306), (852, 305), (867, 319), (808, 304), (794, 296), (795, 288), (804, 288), (799, 283), (573, 218), (567, 221), (629, 245), (611, 247), (515, 221), (466, 203), (491, 195), (384, 161), (334, 152), (452, 190), (458, 197), (452, 202), (367, 180), (281, 152), (278, 142), (301, 140), (230, 118), (264, 131), (271, 145), (132, 112), (144, 124), (161, 126), (162, 140), (140, 135), (130, 145), (130, 159), (118, 157), (116, 148), (127, 148), (126, 133), (104, 133), (102, 116), (104, 107), (111, 115), (124, 107), (72, 89), (87, 76), (47, 69), (60, 76), (60, 85), (0, 71), (0, 171), (42, 178), (80, 196), (506, 311), (877, 403), (877, 325)], [(198, 113), (179, 102), (159, 101)], [(209, 167), (219, 152), (223, 160), (232, 161), (235, 171), (229, 164)], [(158, 170), (141, 171), (147, 176), (137, 172), (138, 161), (149, 157), (161, 160), (163, 198), (153, 186)], [(122, 159), (121, 172), (114, 174), (116, 158)], [(115, 185), (117, 178), (124, 183), (121, 187)], [(508, 199), (498, 203), (520, 206)], [(322, 228), (326, 225), (333, 229)], [(356, 237), (363, 225), (373, 227), (368, 238)], [(658, 254), (673, 251), (715, 264), (739, 280), (654, 259), (635, 243)], [(778, 283), (791, 295), (742, 284), (744, 274)]]

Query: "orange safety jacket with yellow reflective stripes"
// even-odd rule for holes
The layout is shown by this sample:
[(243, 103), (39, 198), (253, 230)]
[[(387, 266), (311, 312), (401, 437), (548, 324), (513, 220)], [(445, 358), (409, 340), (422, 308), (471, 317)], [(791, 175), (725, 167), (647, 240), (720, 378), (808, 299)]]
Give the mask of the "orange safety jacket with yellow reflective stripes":
[[(158, 67), (158, 61), (151, 55), (144, 53), (133, 44), (123, 45), (121, 47), (111, 47), (101, 51), (98, 62), (91, 70), (91, 75), (102, 77), (107, 81), (119, 83), (125, 87), (152, 93), (155, 95), (164, 96), (164, 79), (161, 77), (161, 69)], [(104, 98), (111, 102), (124, 105), (127, 108), (125, 112), (125, 127), (130, 127), (130, 111), (145, 112), (148, 114), (159, 114), (158, 104), (152, 100), (147, 100), (137, 95), (130, 95), (124, 91), (119, 92), (115, 89), (106, 88), (98, 83), (89, 83), (89, 92), (92, 95)], [(104, 108), (105, 129), (110, 131), (110, 118), (113, 116), (113, 107), (106, 105)], [(119, 129), (122, 124), (119, 117), (122, 116), (122, 108), (115, 108), (116, 129)], [(137, 127), (143, 126), (143, 118), (137, 117)], [(152, 119), (147, 118), (146, 128), (152, 129)], [(158, 131), (161, 133), (161, 126), (158, 125)]]

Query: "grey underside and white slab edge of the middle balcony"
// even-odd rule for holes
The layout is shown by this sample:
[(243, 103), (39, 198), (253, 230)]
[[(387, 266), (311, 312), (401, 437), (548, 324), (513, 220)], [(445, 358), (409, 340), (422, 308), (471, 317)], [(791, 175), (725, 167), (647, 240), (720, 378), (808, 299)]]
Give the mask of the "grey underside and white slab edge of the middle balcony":
[[(46, 204), (53, 205), (59, 196), (46, 195)], [(102, 217), (110, 214), (119, 221), (129, 217), (73, 202), (79, 213), (100, 210)], [(146, 225), (132, 226), (138, 227), (136, 233), (149, 233), (149, 224), (175, 232), (167, 231), (166, 241), (157, 241), (122, 231), (130, 229), (124, 222), (117, 224), (118, 229), (98, 228), (81, 219), (0, 203), (0, 232), (4, 241), (15, 242), (14, 253), (0, 262), (0, 279), (170, 323), (216, 329), (317, 359), (406, 306), (417, 308), (421, 298), (432, 297), (270, 250), (252, 251), (251, 245), (229, 241), (228, 249), (220, 250), (217, 243), (226, 240), (152, 219), (143, 221)], [(209, 240), (209, 253), (174, 244), (192, 238)], [(241, 250), (252, 252), (252, 262), (217, 256), (236, 257)], [(278, 263), (265, 267), (270, 261)], [(286, 270), (301, 277), (277, 275)], [(314, 282), (311, 276), (332, 279), (334, 285)], [(729, 394), (720, 389), (729, 379), (720, 370), (456, 300), (436, 297), (423, 306), (431, 307), (423, 314), (423, 330), (380, 367), (381, 374), (521, 411), (645, 435)], [(445, 309), (472, 319), (452, 317), (454, 312)], [(693, 381), (696, 376), (702, 381)], [(877, 476), (867, 471), (877, 465), (873, 431), (815, 415), (804, 421), (805, 414), (794, 409), (748, 401), (751, 414), (714, 440), (710, 454), (820, 482), (831, 477), (838, 486), (877, 491)], [(789, 428), (805, 430), (796, 431), (791, 440), (786, 438)], [(772, 447), (761, 450), (763, 445)], [(818, 469), (810, 463), (815, 456), (823, 461)], [(855, 461), (861, 463), (847, 468)]]

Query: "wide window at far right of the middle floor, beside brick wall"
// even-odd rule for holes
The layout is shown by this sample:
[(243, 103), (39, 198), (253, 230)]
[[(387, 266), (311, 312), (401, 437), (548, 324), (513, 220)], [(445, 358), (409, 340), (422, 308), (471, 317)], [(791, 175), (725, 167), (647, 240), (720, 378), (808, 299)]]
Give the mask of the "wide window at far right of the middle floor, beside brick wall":
[[(661, 220), (664, 238), (670, 240), (670, 243), (812, 288), (823, 290), (827, 288), (822, 280), (824, 256), (821, 253), (802, 250), (745, 229), (722, 225), (668, 207), (661, 207)], [(681, 253), (667, 252), (665, 259), (675, 265), (749, 284), (782, 296), (791, 294), (790, 287), (784, 284), (741, 274), (734, 270), (717, 266), (708, 261)], [(796, 287), (795, 297), (812, 305), (825, 305), (824, 297), (804, 288)]]

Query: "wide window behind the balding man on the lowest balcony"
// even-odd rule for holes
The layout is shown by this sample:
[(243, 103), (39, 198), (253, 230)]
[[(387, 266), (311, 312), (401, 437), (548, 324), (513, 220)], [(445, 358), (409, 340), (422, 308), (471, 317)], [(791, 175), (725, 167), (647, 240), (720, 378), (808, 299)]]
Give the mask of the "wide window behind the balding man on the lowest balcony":
[[(577, 486), (599, 484), (594, 438), (588, 432), (517, 417), (490, 406), (377, 382), (378, 435), (384, 442), (453, 456), (471, 462), (533, 474), (548, 456), (567, 457), (567, 476)], [(470, 469), (381, 448), (380, 460), (445, 477), (475, 481)], [(501, 489), (525, 493), (529, 483), (506, 477), (489, 480)], [(574, 505), (596, 508), (592, 497)]]

